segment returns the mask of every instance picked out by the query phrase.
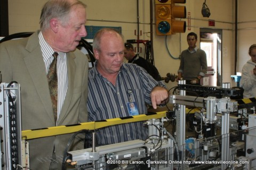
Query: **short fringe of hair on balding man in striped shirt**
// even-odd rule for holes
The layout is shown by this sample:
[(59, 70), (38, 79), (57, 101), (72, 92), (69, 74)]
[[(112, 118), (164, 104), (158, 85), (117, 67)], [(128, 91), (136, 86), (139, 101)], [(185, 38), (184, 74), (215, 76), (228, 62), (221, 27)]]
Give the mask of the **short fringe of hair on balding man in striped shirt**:
[(94, 38), (93, 38), (93, 43), (92, 43), (92, 48), (97, 50), (98, 52), (101, 52), (101, 48), (100, 48), (101, 37), (106, 32), (116, 33), (116, 35), (119, 35), (124, 41), (124, 36), (118, 30), (113, 29), (113, 28), (102, 28), (98, 32), (96, 32), (96, 34), (94, 35)]

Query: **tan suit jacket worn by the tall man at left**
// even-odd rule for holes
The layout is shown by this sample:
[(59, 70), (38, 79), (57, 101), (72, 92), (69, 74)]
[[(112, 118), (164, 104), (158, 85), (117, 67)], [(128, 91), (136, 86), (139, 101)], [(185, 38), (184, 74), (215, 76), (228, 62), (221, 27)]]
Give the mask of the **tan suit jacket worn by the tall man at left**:
[[(21, 87), (22, 130), (55, 126), (38, 32), (0, 44), (2, 82)], [(79, 50), (67, 53), (68, 91), (57, 125), (87, 121), (88, 60)], [(29, 140), (30, 169), (49, 169), (53, 146), (61, 169), (63, 151), (72, 134)]]

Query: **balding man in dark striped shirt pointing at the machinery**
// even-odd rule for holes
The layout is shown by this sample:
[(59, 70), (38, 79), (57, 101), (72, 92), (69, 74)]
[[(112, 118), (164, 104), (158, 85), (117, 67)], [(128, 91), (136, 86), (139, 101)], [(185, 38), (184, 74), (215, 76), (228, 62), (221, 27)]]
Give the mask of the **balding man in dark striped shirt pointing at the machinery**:
[[(89, 72), (89, 121), (146, 114), (146, 104), (156, 108), (169, 97), (163, 84), (145, 69), (123, 63), (124, 48), (123, 36), (114, 29), (101, 29), (94, 37), (97, 61)], [(109, 126), (97, 132), (99, 145), (146, 138), (143, 122)]]

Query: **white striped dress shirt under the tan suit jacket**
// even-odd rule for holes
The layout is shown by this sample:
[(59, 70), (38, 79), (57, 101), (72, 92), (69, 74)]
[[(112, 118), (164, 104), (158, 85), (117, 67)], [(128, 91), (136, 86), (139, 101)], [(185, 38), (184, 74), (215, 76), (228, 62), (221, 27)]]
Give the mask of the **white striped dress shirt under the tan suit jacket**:
[[(54, 53), (52, 47), (45, 41), (42, 32), (38, 34), (39, 45), (42, 50), (43, 60), (45, 64), (46, 75), (48, 73), (49, 67), (53, 61), (52, 54)], [(62, 105), (64, 103), (65, 97), (68, 91), (68, 71), (67, 71), (67, 57), (66, 53), (59, 52), (57, 60), (57, 77), (58, 77), (58, 118)]]

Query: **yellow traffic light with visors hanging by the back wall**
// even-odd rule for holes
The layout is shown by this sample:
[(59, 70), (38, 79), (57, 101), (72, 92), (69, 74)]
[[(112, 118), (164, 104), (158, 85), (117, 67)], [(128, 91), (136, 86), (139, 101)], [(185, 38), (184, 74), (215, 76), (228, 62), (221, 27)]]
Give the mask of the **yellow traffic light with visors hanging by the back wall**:
[(172, 35), (186, 31), (186, 22), (175, 18), (186, 18), (186, 6), (175, 3), (186, 3), (186, 0), (155, 0), (156, 34)]

